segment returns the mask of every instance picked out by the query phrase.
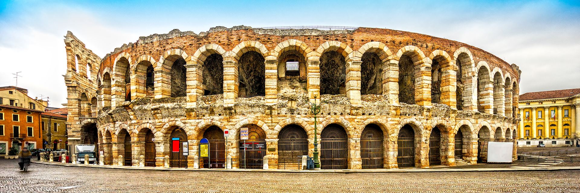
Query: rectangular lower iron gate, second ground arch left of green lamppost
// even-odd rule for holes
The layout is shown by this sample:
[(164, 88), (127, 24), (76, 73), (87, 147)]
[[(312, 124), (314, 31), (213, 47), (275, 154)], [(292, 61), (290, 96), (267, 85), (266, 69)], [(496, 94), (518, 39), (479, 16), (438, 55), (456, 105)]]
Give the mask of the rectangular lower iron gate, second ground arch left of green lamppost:
[[(249, 139), (245, 140), (245, 143), (248, 145), (248, 148), (244, 152), (244, 140), (240, 140), (240, 168), (263, 169), (264, 156), (266, 156), (266, 140)], [(260, 145), (263, 148), (258, 149)]]

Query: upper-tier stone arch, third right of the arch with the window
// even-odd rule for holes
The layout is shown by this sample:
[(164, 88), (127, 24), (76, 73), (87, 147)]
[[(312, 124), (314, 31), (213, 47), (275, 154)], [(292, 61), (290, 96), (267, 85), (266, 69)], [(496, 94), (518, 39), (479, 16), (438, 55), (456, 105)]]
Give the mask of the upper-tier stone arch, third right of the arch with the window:
[(399, 103), (431, 105), (430, 78), (416, 76), (430, 74), (432, 62), (429, 57), (425, 57), (416, 46), (408, 45), (398, 50), (395, 59), (398, 61), (399, 70)]

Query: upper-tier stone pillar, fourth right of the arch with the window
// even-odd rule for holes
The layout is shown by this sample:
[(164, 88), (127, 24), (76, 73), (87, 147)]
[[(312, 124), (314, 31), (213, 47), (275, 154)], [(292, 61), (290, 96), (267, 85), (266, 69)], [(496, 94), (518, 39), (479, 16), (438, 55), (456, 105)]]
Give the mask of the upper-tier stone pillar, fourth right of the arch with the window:
[(429, 63), (420, 64), (419, 70), (415, 65), (415, 104), (431, 106), (431, 64)]

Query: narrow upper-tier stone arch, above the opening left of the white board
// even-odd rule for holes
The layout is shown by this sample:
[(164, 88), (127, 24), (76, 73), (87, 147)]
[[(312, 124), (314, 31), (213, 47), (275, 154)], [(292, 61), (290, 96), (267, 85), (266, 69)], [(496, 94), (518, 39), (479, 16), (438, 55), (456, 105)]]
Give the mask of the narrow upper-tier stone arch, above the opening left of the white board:
[(494, 84), (490, 66), (485, 61), (477, 64), (477, 110), (492, 114), (494, 105)]

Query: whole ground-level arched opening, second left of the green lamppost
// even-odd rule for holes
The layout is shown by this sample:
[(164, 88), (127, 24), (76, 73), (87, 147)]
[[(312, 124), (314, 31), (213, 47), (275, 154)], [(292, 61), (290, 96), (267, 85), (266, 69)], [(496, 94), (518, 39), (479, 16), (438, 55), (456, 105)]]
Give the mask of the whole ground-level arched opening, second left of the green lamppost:
[(264, 156), (266, 156), (266, 132), (254, 124), (245, 125), (242, 128), (248, 128), (248, 139), (240, 140), (240, 168), (263, 169)]

